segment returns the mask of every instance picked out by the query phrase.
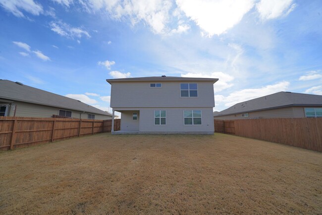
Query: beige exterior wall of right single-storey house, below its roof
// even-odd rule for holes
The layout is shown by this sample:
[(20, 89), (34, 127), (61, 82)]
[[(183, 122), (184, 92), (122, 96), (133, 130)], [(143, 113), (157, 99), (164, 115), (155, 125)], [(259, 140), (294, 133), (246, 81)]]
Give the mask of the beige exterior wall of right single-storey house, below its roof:
[[(247, 112), (245, 112), (247, 113)], [(269, 110), (248, 112), (248, 117), (241, 117), (241, 113), (226, 116), (215, 116), (214, 119), (258, 119), (258, 118), (300, 118), (305, 117), (304, 107), (282, 107)]]

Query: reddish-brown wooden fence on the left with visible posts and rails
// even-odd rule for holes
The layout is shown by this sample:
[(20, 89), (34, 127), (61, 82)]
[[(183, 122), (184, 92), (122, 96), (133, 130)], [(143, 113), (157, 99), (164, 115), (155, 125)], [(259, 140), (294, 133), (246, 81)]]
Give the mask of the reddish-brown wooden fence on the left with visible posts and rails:
[[(71, 137), (110, 132), (112, 120), (0, 117), (0, 150), (37, 145)], [(120, 119), (114, 119), (120, 130)]]

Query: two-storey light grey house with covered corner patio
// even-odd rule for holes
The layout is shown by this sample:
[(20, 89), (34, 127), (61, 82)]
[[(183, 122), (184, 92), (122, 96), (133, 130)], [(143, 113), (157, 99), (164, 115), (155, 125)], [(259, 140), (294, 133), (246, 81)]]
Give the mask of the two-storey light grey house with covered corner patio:
[(165, 76), (108, 79), (112, 114), (121, 112), (121, 130), (112, 133), (214, 134), (217, 80)]

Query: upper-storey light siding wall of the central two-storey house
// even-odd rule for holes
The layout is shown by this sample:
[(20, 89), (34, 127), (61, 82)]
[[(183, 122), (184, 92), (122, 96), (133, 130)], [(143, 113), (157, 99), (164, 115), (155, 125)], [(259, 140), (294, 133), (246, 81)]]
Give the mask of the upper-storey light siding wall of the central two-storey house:
[[(150, 87), (161, 83), (162, 87)], [(198, 97), (180, 97), (180, 83), (198, 83)], [(212, 82), (122, 82), (111, 85), (111, 107), (215, 107)], [(115, 108), (116, 109), (116, 108)]]

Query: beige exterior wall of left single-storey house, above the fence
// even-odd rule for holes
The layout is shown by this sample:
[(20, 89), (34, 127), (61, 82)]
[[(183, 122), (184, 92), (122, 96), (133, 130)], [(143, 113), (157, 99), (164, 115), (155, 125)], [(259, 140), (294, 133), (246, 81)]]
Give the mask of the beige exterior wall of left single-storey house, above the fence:
[[(43, 106), (37, 105), (32, 103), (24, 103), (24, 102), (14, 102), (16, 114), (15, 116), (27, 116), (27, 117), (52, 117), (53, 115), (58, 115), (59, 110), (68, 110), (72, 111), (73, 118), (81, 118), (87, 119), (88, 113), (87, 112), (80, 112), (77, 110), (70, 110), (65, 108), (58, 108), (58, 107), (50, 107), (50, 106)], [(81, 114), (82, 113), (82, 114)], [(111, 116), (105, 116), (100, 114), (95, 114), (95, 119), (111, 119)], [(14, 115), (14, 108), (10, 108), (10, 113), (8, 116)]]

